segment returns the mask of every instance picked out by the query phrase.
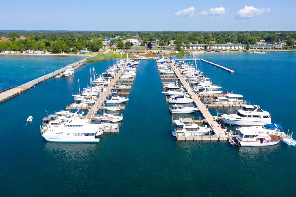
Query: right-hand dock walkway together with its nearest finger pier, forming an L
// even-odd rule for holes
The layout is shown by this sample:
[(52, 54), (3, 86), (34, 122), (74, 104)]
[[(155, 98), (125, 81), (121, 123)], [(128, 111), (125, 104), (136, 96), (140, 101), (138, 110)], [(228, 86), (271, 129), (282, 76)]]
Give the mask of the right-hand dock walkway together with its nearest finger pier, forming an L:
[[(202, 103), (202, 101), (200, 101), (199, 97), (194, 93), (194, 91), (191, 90), (191, 87), (186, 82), (186, 80), (184, 80), (184, 78), (182, 77), (182, 75), (178, 71), (178, 69), (175, 67), (175, 65), (173, 63), (171, 63), (169, 59), (168, 59), (168, 62), (170, 63), (170, 66), (172, 67), (172, 69), (174, 70), (176, 75), (178, 76), (181, 83), (183, 83), (184, 88), (187, 90), (187, 93), (189, 93), (192, 96), (194, 103), (199, 108), (199, 110), (200, 110), (202, 116), (205, 118), (206, 122), (208, 122), (209, 125), (213, 126), (213, 132), (215, 133), (214, 136), (211, 135), (209, 137), (203, 137), (203, 135), (202, 136), (193, 136), (193, 137), (189, 137), (189, 136), (186, 137), (185, 136), (184, 139), (177, 139), (177, 140), (207, 140), (207, 139), (208, 140), (219, 140), (221, 138), (221, 136), (225, 135), (225, 132), (222, 130), (221, 127), (218, 127), (218, 124), (214, 120), (214, 117), (210, 114), (210, 112), (207, 110), (207, 108)], [(178, 138), (182, 138), (182, 137), (179, 136)], [(221, 138), (221, 139), (223, 139), (223, 138)], [(225, 139), (227, 139), (227, 138), (225, 138)]]

